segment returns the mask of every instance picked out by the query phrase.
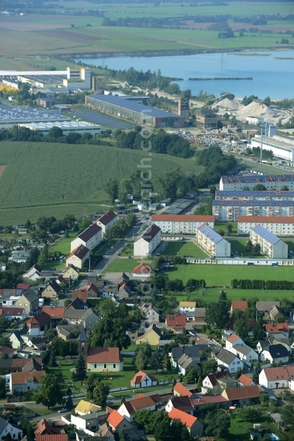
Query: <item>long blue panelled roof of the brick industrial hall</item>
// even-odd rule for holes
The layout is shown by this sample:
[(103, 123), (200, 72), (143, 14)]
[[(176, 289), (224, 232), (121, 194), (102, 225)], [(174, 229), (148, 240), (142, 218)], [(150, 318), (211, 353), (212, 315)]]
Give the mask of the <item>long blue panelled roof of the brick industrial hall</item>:
[(180, 118), (179, 115), (171, 112), (165, 112), (165, 110), (160, 110), (155, 107), (145, 106), (144, 104), (135, 103), (133, 101), (124, 100), (123, 97), (113, 97), (112, 95), (100, 95), (99, 93), (94, 93), (88, 95), (88, 97), (94, 98), (97, 101), (104, 101), (119, 107), (127, 108), (133, 110), (134, 112), (139, 112), (142, 115), (152, 116), (154, 118)]

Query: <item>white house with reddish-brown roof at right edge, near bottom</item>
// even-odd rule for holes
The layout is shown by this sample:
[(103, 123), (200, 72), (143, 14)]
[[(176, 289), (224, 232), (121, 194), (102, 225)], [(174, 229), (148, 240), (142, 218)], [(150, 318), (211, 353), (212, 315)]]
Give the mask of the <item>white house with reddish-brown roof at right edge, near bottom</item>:
[(259, 384), (266, 389), (287, 388), (293, 380), (294, 366), (264, 367), (259, 374)]

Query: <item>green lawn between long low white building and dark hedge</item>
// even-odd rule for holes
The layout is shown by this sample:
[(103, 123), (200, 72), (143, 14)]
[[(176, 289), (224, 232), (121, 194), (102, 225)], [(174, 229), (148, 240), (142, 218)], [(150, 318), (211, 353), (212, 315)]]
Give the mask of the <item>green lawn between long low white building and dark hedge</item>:
[[(235, 265), (174, 265), (165, 273), (169, 279), (204, 279), (208, 286), (231, 286), (235, 279), (293, 280), (293, 267)], [(245, 290), (244, 292), (246, 292)]]

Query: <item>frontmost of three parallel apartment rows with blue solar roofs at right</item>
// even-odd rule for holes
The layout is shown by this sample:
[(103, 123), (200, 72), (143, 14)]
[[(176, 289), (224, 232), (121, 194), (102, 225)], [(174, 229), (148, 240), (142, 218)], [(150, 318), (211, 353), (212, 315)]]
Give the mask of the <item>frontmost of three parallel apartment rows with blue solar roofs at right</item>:
[(212, 202), (216, 222), (235, 222), (238, 216), (294, 216), (294, 201), (216, 200)]

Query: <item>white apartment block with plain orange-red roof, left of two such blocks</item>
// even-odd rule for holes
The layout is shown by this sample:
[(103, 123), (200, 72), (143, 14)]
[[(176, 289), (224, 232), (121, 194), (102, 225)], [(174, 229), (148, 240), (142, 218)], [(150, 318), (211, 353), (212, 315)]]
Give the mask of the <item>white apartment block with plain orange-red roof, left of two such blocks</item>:
[(163, 233), (195, 234), (197, 228), (208, 224), (214, 228), (214, 216), (197, 216), (195, 214), (153, 214), (151, 224), (157, 225)]

